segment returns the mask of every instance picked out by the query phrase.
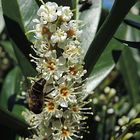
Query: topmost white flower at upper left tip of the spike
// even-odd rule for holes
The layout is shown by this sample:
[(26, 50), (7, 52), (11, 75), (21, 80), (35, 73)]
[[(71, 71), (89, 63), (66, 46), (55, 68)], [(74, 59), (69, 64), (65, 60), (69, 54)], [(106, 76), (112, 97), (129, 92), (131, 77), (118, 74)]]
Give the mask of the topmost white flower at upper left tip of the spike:
[(40, 16), (43, 24), (47, 22), (54, 22), (57, 20), (56, 10), (58, 5), (54, 2), (47, 2), (44, 5), (41, 5), (37, 11), (37, 15)]

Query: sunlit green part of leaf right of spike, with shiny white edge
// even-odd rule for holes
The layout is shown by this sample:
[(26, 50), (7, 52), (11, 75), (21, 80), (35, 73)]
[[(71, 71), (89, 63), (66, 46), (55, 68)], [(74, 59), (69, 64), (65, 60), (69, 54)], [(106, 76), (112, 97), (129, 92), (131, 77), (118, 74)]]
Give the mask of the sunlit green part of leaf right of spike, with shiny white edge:
[[(116, 33), (116, 35), (119, 34), (125, 34), (126, 28), (124, 25), (121, 25), (120, 29)], [(105, 78), (106, 76), (114, 69), (115, 62), (113, 60), (112, 51), (116, 50), (123, 50), (125, 46), (116, 41), (115, 39), (112, 39), (107, 48), (102, 53), (100, 59), (97, 61), (93, 71), (89, 75), (89, 81), (87, 82), (87, 90), (92, 91), (94, 90)]]

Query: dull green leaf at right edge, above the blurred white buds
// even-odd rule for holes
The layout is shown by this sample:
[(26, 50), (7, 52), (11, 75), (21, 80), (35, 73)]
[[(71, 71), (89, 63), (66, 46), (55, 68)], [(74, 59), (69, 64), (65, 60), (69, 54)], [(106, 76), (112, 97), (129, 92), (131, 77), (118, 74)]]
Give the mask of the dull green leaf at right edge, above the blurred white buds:
[(133, 54), (132, 50), (132, 48), (126, 48), (124, 50), (120, 58), (119, 65), (125, 85), (127, 87), (127, 91), (130, 95), (130, 101), (133, 105), (136, 105), (140, 102), (140, 80), (138, 76), (137, 63), (134, 59), (134, 56), (136, 57), (136, 54)]

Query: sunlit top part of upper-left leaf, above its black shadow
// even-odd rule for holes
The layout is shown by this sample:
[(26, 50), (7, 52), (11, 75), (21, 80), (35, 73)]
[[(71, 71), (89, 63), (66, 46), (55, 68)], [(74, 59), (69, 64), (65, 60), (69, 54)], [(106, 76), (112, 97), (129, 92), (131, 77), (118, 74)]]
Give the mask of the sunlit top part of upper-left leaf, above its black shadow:
[(38, 5), (34, 0), (2, 0), (4, 16), (18, 23), (22, 31), (32, 28)]

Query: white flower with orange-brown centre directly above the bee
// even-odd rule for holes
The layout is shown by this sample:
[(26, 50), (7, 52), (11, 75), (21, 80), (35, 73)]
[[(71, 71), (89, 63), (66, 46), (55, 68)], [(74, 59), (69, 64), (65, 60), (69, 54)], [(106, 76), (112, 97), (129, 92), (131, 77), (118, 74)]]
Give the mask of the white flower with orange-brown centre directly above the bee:
[(66, 60), (63, 57), (57, 58), (56, 51), (48, 51), (40, 58), (31, 60), (35, 62), (36, 70), (42, 74), (43, 78), (49, 80), (50, 78), (59, 79), (65, 71)]

